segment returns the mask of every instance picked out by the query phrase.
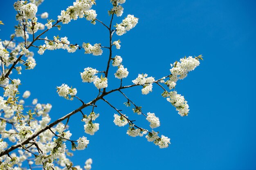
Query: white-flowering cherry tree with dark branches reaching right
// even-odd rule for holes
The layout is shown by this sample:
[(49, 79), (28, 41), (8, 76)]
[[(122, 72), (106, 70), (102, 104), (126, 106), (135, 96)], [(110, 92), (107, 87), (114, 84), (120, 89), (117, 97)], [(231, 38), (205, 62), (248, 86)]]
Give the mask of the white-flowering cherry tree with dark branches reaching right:
[[(85, 166), (81, 168), (80, 166), (74, 166), (68, 158), (71, 153), (67, 152), (67, 142), (72, 144), (71, 149), (73, 151), (84, 150), (88, 146), (88, 138), (90, 138), (82, 136), (79, 139), (72, 139), (72, 134), (68, 130), (68, 123), (72, 115), (80, 113), (82, 121), (85, 122), (84, 132), (94, 135), (99, 130), (99, 123), (95, 123), (99, 113), (94, 112), (99, 100), (106, 102), (110, 108), (115, 110), (116, 114), (114, 114), (113, 122), (117, 126), (127, 126), (127, 135), (131, 137), (145, 136), (148, 141), (153, 142), (159, 148), (168, 147), (170, 139), (153, 130), (160, 126), (159, 118), (155, 113), (143, 113), (141, 107), (132, 102), (132, 99), (123, 92), (123, 89), (140, 86), (141, 93), (147, 95), (152, 92), (153, 84), (155, 84), (163, 90), (162, 96), (166, 97), (166, 100), (176, 108), (178, 114), (187, 116), (189, 105), (174, 88), (179, 79), (184, 79), (189, 71), (199, 66), (202, 55), (183, 57), (179, 62), (176, 61), (171, 64), (168, 74), (159, 75), (157, 79), (149, 77), (147, 74), (138, 74), (132, 84), (124, 85), (122, 79), (126, 78), (129, 72), (123, 65), (122, 57), (113, 54), (112, 48), (121, 48), (121, 41), (118, 40), (117, 36), (133, 29), (139, 20), (134, 15), (127, 15), (121, 23), (114, 24), (114, 18), (122, 16), (124, 9), (121, 4), (126, 0), (110, 0), (112, 9), (108, 11), (109, 23), (103, 23), (97, 18), (96, 11), (92, 9), (96, 4), (95, 0), (76, 0), (73, 6), (61, 11), (61, 14), (55, 20), (47, 20), (45, 24), (42, 24), (36, 18), (38, 16), (38, 6), (42, 2), (43, 0), (30, 0), (30, 2), (18, 0), (15, 2), (13, 7), (17, 11), (16, 20), (18, 22), (15, 26), (15, 33), (11, 35), (10, 40), (0, 42), (2, 66), (0, 86), (3, 89), (3, 96), (0, 97), (0, 169), (82, 170), (85, 168), (90, 170), (92, 159), (86, 160)], [(48, 18), (48, 13), (42, 13), (40, 17)], [(86, 18), (92, 24), (97, 22), (102, 24), (104, 29), (109, 32), (109, 44), (102, 46), (99, 43), (92, 45), (84, 42), (79, 46), (76, 43), (70, 43), (67, 37), (54, 36), (49, 39), (46, 37), (47, 31), (61, 30), (62, 24), (68, 24), (71, 20), (77, 20), (78, 18)], [(3, 23), (0, 22), (0, 24)], [(38, 46), (35, 45), (35, 42), (44, 43)], [(34, 99), (32, 105), (25, 105), (25, 99), (30, 96), (30, 92), (25, 91), (23, 95), (20, 95), (18, 91), (18, 87), (21, 85), (20, 79), (11, 77), (11, 73), (16, 70), (19, 75), (23, 72), (22, 68), (31, 70), (36, 66), (32, 51), (36, 50), (39, 55), (43, 55), (45, 50), (56, 49), (64, 49), (68, 53), (84, 49), (85, 54), (92, 55), (102, 55), (103, 49), (106, 49), (108, 62), (105, 70), (98, 71), (96, 68), (87, 67), (80, 73), (82, 82), (93, 83), (99, 90), (90, 102), (83, 102), (83, 99), (76, 95), (76, 88), (67, 84), (57, 86), (57, 93), (60, 97), (67, 100), (76, 98), (82, 105), (71, 113), (67, 113), (65, 116), (51, 122), (51, 104), (40, 104), (37, 99)], [(110, 73), (109, 68), (111, 66), (117, 67), (115, 73)], [(109, 76), (120, 79), (119, 86), (112, 89), (107, 88)], [(124, 105), (131, 107), (131, 112), (145, 117), (151, 129), (138, 126), (135, 124), (135, 120), (130, 120), (127, 115), (122, 113), (120, 108), (116, 108), (115, 104), (108, 102), (106, 96), (113, 92), (123, 95), (127, 100)], [(86, 107), (92, 107), (91, 113), (83, 113), (83, 109)], [(24, 168), (26, 166), (27, 168)]]

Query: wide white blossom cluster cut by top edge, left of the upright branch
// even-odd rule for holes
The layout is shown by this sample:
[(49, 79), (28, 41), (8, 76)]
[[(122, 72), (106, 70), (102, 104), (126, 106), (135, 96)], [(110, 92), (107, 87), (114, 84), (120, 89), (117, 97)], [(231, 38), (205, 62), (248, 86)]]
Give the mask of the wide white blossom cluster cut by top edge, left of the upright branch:
[(76, 0), (76, 2), (73, 2), (73, 6), (68, 7), (66, 11), (61, 11), (58, 20), (61, 20), (63, 24), (68, 24), (71, 20), (85, 17), (92, 24), (95, 24), (97, 14), (96, 11), (91, 9), (93, 4), (95, 4), (94, 0)]

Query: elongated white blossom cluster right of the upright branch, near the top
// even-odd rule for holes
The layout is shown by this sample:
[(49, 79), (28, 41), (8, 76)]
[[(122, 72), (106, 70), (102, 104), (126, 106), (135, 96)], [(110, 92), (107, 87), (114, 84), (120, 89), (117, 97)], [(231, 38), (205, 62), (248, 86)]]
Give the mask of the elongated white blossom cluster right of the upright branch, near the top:
[(117, 35), (123, 35), (126, 31), (130, 31), (130, 29), (134, 28), (138, 23), (138, 18), (133, 15), (127, 15), (127, 17), (120, 23), (116, 25), (116, 33)]

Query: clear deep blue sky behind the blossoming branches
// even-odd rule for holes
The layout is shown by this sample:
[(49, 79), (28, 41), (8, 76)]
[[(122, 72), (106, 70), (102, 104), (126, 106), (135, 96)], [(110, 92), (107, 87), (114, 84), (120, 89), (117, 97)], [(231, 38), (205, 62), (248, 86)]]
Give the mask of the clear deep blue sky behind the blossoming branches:
[[(15, 11), (13, 0), (1, 2), (0, 39), (9, 40), (14, 32)], [(49, 19), (56, 20), (61, 10), (72, 1), (45, 0), (38, 14), (47, 11)], [(108, 0), (97, 0), (98, 19), (108, 23)], [(73, 138), (86, 136), (90, 140), (87, 149), (74, 152), (74, 164), (84, 165), (93, 159), (92, 170), (254, 170), (256, 163), (255, 133), (255, 82), (256, 66), (256, 4), (253, 0), (127, 0), (120, 23), (128, 14), (139, 18), (137, 26), (113, 40), (121, 40), (121, 49), (114, 55), (123, 57), (129, 76), (124, 84), (138, 73), (147, 73), (160, 78), (169, 74), (170, 63), (181, 57), (202, 54), (204, 61), (176, 86), (190, 106), (188, 117), (180, 117), (175, 108), (162, 96), (162, 90), (153, 87), (153, 93), (141, 95), (140, 87), (124, 92), (143, 106), (144, 113), (155, 113), (161, 122), (157, 128), (171, 138), (171, 145), (159, 149), (144, 137), (129, 137), (127, 127), (117, 127), (112, 122), (115, 110), (99, 102), (95, 112), (100, 113), (97, 122), (100, 130), (94, 136), (84, 133), (81, 115), (70, 119)], [(46, 20), (39, 20), (46, 22)], [(46, 36), (67, 36), (71, 43), (83, 42), (108, 45), (108, 30), (100, 23), (95, 26), (85, 19), (72, 21), (62, 26), (61, 31), (50, 30)], [(40, 42), (43, 43), (43, 42)], [(63, 50), (35, 53), (36, 68), (22, 71), (20, 92), (31, 91), (31, 97), (40, 103), (51, 103), (52, 120), (80, 106), (79, 101), (67, 101), (58, 97), (56, 86), (66, 83), (77, 88), (85, 102), (97, 95), (93, 84), (81, 81), (79, 72), (85, 67), (103, 70), (106, 67), (108, 50), (101, 56), (85, 55), (84, 51), (67, 53)], [(119, 84), (114, 77), (116, 68), (110, 68), (109, 87)], [(11, 75), (15, 78), (16, 75)], [(110, 89), (108, 88), (108, 89)], [(136, 124), (148, 128), (143, 117), (133, 115), (123, 105), (126, 100), (115, 93), (106, 97), (126, 115), (136, 119)], [(83, 112), (90, 113), (86, 108)]]

